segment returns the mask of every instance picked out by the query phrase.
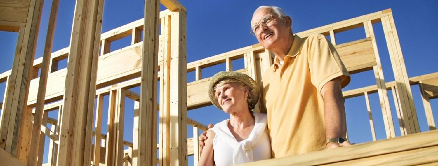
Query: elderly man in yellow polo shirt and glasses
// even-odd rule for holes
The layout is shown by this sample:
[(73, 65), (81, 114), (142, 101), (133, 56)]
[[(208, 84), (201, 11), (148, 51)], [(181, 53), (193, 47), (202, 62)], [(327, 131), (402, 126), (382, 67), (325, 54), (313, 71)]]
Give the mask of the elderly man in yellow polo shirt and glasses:
[(262, 78), (261, 111), (268, 114), (272, 157), (350, 145), (342, 90), (350, 76), (324, 35), (293, 35), (279, 7), (254, 11), (253, 35), (275, 54)]

